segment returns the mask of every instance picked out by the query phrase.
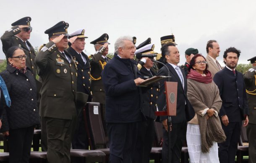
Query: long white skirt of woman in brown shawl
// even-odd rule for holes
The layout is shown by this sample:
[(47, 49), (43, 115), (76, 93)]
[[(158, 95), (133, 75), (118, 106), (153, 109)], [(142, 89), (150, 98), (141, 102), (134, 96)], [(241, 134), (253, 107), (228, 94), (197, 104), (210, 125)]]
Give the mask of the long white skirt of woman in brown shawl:
[(190, 163), (219, 163), (217, 142), (213, 143), (209, 153), (201, 152), (201, 135), (198, 124), (188, 123), (187, 144)]

